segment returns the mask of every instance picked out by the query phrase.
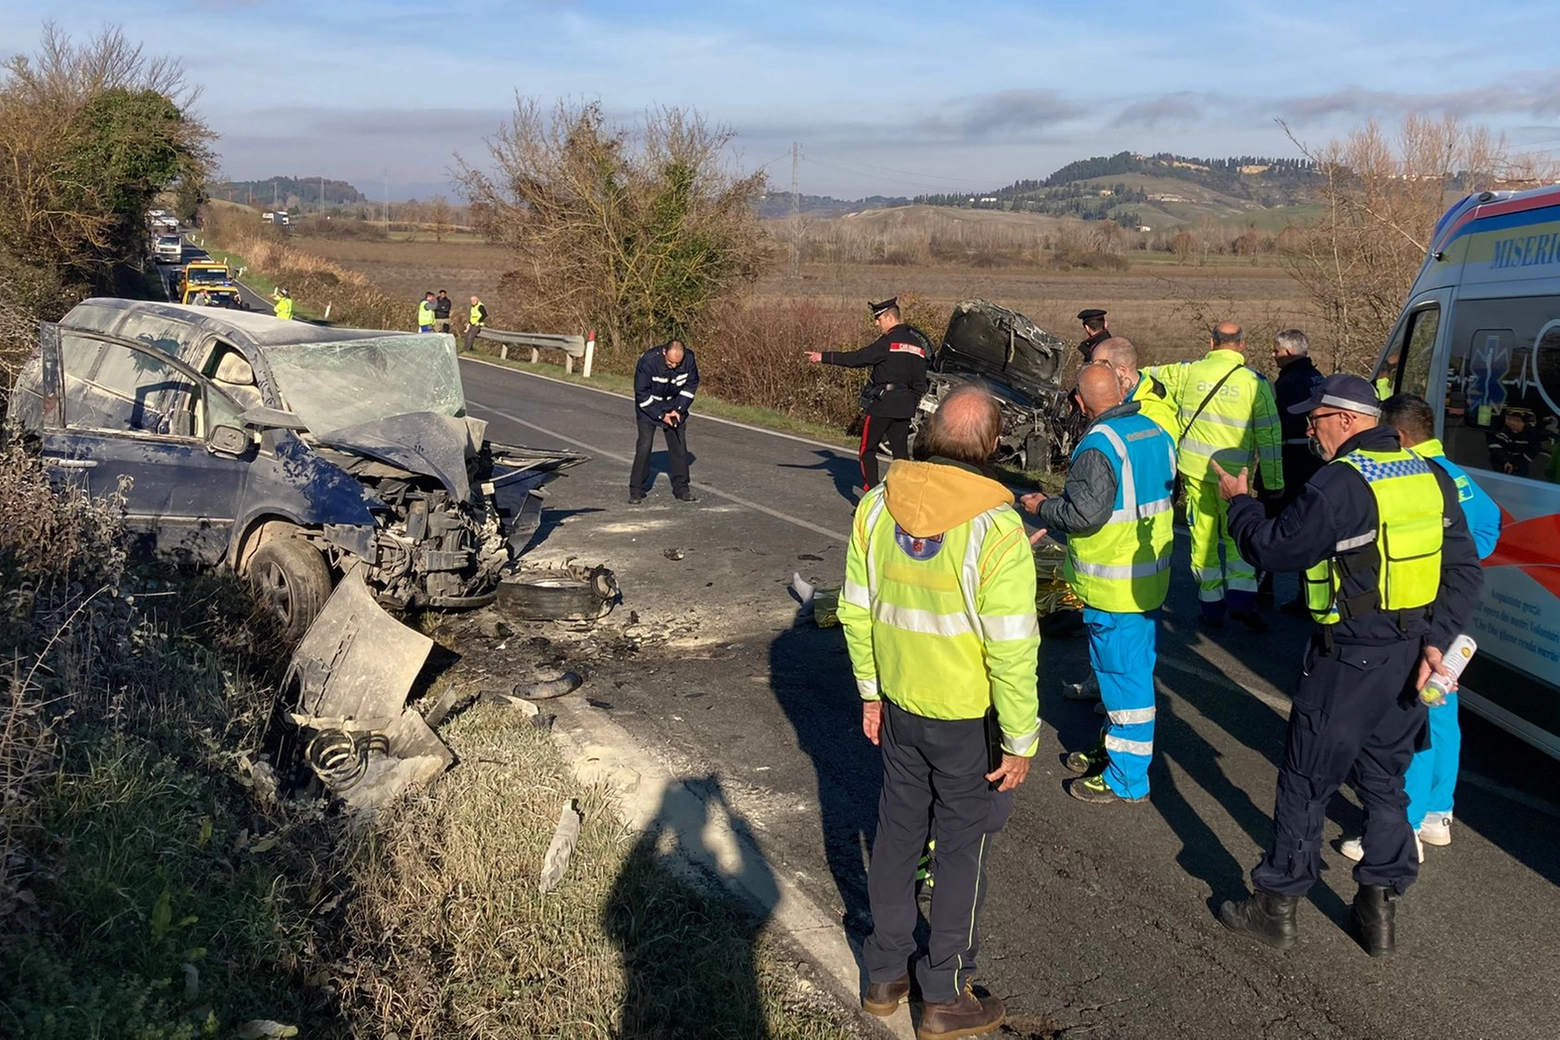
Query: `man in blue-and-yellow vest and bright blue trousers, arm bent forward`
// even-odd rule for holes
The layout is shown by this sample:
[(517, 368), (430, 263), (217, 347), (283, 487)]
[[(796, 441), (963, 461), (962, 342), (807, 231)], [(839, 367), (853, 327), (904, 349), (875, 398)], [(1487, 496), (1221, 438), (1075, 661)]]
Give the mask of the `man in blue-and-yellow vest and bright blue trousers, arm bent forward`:
[(1175, 441), (1122, 401), (1111, 365), (1084, 365), (1073, 391), (1089, 426), (1061, 497), (1020, 499), (1042, 527), (1067, 535), (1065, 577), (1083, 600), (1089, 664), (1106, 725), (1092, 752), (1067, 756), (1080, 801), (1145, 801), (1154, 750), (1154, 635), (1170, 589)]

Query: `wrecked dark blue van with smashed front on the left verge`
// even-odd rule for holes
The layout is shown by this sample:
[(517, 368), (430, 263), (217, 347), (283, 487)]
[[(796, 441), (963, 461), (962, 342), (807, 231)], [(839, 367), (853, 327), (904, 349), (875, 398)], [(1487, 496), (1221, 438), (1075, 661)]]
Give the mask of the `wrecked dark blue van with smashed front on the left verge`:
[(122, 496), (137, 546), (248, 577), (300, 636), (345, 571), (385, 607), (490, 602), (571, 452), (485, 440), (456, 341), (87, 299), (42, 326), (6, 424)]

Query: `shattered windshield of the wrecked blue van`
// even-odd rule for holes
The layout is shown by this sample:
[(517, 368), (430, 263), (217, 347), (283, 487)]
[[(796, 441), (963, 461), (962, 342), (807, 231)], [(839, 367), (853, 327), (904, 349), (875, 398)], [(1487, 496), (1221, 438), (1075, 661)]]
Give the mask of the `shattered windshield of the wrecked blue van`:
[(314, 433), (407, 412), (462, 416), (466, 393), (449, 335), (387, 335), (265, 349), (276, 393)]

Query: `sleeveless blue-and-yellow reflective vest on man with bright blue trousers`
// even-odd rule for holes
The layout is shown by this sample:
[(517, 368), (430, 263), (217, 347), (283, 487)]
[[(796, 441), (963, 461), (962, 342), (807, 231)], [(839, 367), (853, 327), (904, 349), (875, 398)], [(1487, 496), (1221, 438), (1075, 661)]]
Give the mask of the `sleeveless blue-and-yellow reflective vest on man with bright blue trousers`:
[(1089, 427), (1073, 449), (1098, 451), (1115, 472), (1111, 519), (1092, 535), (1067, 536), (1064, 575), (1095, 610), (1142, 614), (1170, 591), (1175, 544), (1175, 441), (1142, 412)]

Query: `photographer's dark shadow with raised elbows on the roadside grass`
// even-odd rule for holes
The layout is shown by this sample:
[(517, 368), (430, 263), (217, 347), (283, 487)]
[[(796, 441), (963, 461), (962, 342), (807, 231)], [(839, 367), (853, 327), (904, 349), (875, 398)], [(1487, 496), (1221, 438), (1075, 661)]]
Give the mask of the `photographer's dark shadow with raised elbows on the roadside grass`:
[[(665, 872), (682, 864), (716, 875), (746, 898), (722, 898), (711, 886), (668, 886)], [(783, 1010), (764, 1007), (757, 946), (778, 900), (774, 872), (721, 780), (669, 784), (602, 909), (602, 928), (624, 967), (615, 1035), (769, 1040), (771, 1015)]]

